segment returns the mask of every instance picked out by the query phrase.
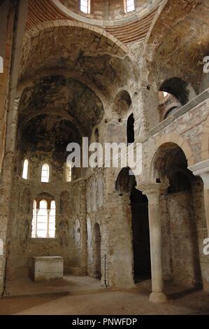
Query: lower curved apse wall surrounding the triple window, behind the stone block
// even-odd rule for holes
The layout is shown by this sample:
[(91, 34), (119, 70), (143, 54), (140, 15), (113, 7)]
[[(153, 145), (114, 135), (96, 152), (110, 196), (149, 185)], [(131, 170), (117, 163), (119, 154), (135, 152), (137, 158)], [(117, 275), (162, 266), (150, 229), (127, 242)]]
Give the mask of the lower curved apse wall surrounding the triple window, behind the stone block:
[[(33, 202), (50, 193), (56, 202), (56, 236), (31, 238)], [(64, 272), (86, 274), (85, 181), (38, 183), (14, 176), (8, 234), (8, 279), (27, 275), (33, 256), (62, 256)]]

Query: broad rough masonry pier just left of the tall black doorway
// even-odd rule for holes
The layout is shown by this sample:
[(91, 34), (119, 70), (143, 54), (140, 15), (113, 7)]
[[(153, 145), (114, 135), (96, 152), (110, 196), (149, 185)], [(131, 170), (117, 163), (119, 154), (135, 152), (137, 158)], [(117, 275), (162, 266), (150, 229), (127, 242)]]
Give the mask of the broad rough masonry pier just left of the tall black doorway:
[(130, 194), (114, 191), (106, 212), (108, 284), (117, 288), (134, 287)]

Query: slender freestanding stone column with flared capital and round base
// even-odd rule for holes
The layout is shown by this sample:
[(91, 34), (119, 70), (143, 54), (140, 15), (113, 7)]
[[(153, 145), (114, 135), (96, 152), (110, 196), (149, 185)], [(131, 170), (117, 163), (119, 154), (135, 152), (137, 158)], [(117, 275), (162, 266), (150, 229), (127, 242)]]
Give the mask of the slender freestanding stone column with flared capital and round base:
[(152, 293), (150, 302), (166, 302), (164, 293), (164, 281), (162, 271), (161, 250), (161, 214), (159, 208), (159, 196), (168, 188), (163, 183), (145, 183), (137, 186), (148, 199), (149, 224), (150, 224), (150, 253), (152, 272)]

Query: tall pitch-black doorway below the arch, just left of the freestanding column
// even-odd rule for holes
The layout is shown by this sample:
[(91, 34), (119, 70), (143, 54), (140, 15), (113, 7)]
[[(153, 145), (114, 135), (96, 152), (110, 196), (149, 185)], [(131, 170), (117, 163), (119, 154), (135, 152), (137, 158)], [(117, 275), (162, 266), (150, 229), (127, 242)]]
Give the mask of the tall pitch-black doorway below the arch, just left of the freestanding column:
[(139, 190), (131, 190), (131, 211), (135, 283), (151, 278), (148, 200)]

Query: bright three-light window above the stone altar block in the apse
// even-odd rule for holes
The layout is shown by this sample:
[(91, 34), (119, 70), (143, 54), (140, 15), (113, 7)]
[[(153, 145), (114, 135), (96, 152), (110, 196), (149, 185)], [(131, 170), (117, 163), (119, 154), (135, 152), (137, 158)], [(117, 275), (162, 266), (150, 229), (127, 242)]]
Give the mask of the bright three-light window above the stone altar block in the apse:
[(51, 202), (50, 209), (48, 209), (48, 202), (46, 200), (39, 202), (39, 208), (37, 208), (36, 201), (34, 201), (33, 214), (32, 237), (55, 237), (55, 201)]

